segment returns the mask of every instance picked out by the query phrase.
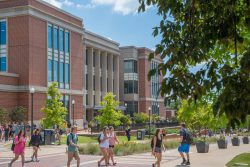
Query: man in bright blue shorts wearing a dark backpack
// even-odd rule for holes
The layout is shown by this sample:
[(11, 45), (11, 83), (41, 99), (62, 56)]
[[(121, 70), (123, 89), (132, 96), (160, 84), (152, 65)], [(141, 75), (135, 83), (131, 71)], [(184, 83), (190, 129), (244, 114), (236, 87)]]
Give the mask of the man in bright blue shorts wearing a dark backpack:
[[(180, 130), (180, 146), (178, 147), (178, 151), (183, 159), (181, 165), (190, 165), (190, 157), (189, 157), (189, 149), (190, 144), (192, 143), (192, 137), (191, 134), (186, 129), (185, 124), (181, 124), (181, 130)], [(184, 156), (184, 153), (186, 153), (187, 159)]]

